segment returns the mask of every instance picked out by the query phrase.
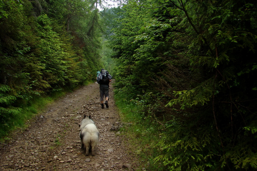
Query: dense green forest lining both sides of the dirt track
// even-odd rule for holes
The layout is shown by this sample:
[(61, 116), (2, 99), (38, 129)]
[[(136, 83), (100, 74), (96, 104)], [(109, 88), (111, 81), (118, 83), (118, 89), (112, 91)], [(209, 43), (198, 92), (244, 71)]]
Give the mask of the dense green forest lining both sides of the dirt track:
[(1, 127), (106, 66), (146, 170), (256, 170), (256, 3), (0, 1)]

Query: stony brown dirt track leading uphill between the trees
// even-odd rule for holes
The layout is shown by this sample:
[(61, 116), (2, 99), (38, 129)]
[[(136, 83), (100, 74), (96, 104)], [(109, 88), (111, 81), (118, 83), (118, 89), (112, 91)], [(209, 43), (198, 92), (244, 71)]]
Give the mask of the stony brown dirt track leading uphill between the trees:
[[(109, 109), (101, 109), (96, 83), (65, 95), (51, 104), (46, 113), (30, 121), (23, 132), (0, 146), (0, 170), (137, 170), (135, 156), (125, 137), (119, 134), (119, 113), (110, 86)], [(95, 156), (80, 149), (79, 123), (91, 114), (100, 137)], [(113, 131), (114, 130), (114, 131)]]

